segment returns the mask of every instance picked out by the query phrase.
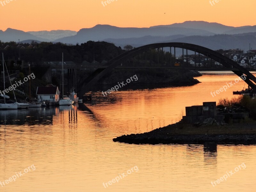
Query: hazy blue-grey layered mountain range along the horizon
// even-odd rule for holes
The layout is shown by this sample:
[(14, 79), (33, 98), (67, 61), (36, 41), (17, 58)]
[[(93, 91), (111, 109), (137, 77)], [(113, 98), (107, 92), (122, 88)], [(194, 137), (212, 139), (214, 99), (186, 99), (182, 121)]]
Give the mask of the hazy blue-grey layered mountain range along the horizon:
[(30, 31), (8, 28), (0, 30), (0, 40), (28, 42), (28, 40), (51, 41), (67, 44), (81, 44), (87, 41), (106, 41), (124, 47), (131, 44), (138, 47), (160, 42), (184, 42), (199, 44), (211, 49), (241, 48), (249, 50), (249, 43), (256, 47), (256, 26), (230, 27), (205, 21), (185, 21), (172, 25), (149, 28), (120, 28), (110, 25), (96, 25), (76, 31)]

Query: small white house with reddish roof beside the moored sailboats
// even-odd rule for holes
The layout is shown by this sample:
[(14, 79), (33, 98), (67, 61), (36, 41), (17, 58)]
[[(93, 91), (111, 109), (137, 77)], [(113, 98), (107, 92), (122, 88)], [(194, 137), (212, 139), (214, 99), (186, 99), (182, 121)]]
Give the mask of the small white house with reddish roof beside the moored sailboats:
[(58, 102), (60, 100), (60, 92), (58, 87), (37, 87), (36, 96), (38, 101)]

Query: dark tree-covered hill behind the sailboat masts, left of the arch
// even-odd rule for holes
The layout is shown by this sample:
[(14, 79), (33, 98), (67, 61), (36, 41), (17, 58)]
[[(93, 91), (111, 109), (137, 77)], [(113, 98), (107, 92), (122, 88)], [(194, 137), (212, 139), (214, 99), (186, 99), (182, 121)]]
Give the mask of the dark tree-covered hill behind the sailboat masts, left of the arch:
[(6, 60), (18, 60), (19, 55), (24, 62), (41, 64), (46, 61), (61, 61), (62, 52), (65, 61), (82, 63), (84, 60), (98, 62), (111, 60), (123, 53), (121, 47), (112, 43), (88, 41), (81, 45), (67, 45), (62, 43), (32, 42), (31, 44), (17, 44), (15, 42), (3, 43), (0, 41), (0, 52), (4, 53)]

